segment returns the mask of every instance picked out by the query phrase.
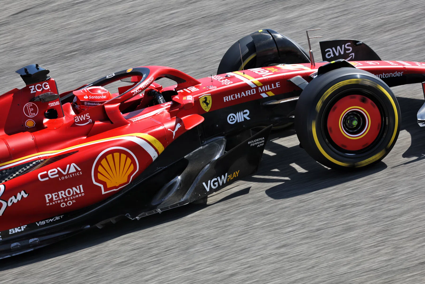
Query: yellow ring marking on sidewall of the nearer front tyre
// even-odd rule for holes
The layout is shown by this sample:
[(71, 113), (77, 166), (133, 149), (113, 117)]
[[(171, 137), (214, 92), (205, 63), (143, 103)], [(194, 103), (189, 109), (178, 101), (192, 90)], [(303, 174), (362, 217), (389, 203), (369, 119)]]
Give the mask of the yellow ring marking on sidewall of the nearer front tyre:
[(348, 79), (342, 82), (338, 82), (337, 84), (333, 85), (331, 88), (329, 88), (324, 94), (323, 96), (319, 99), (319, 102), (317, 102), (316, 105), (316, 113), (318, 114), (320, 111), (320, 108), (323, 105), (323, 102), (329, 97), (329, 95), (331, 95), (334, 91), (336, 91), (337, 89), (339, 89), (342, 86), (345, 85), (352, 85), (352, 84), (360, 84), (360, 85), (368, 85), (374, 88), (378, 88), (383, 94), (385, 94), (385, 96), (387, 96), (388, 100), (391, 102), (391, 105), (393, 106), (394, 109), (394, 116), (395, 116), (395, 121), (394, 121), (394, 133), (391, 137), (390, 142), (388, 143), (388, 145), (385, 147), (385, 149), (382, 149), (382, 151), (380, 151), (379, 153), (375, 154), (374, 156), (371, 156), (368, 159), (365, 159), (361, 162), (357, 162), (354, 164), (349, 164), (349, 163), (345, 163), (345, 162), (340, 162), (337, 161), (336, 159), (332, 158), (331, 156), (329, 156), (328, 153), (326, 153), (325, 150), (323, 150), (322, 145), (320, 145), (319, 139), (317, 139), (317, 133), (316, 133), (316, 119), (314, 119), (312, 121), (312, 132), (313, 132), (313, 139), (314, 142), (316, 143), (317, 148), (319, 149), (320, 153), (322, 153), (323, 156), (326, 157), (326, 159), (328, 159), (329, 161), (337, 164), (337, 165), (341, 165), (344, 167), (351, 167), (354, 165), (355, 168), (360, 168), (363, 167), (365, 165), (371, 164), (377, 160), (379, 160), (383, 155), (385, 155), (386, 150), (389, 149), (391, 147), (391, 144), (394, 142), (394, 139), (397, 135), (397, 129), (398, 129), (398, 111), (397, 111), (397, 107), (396, 104), (394, 102), (394, 99), (391, 97), (391, 95), (388, 93), (387, 90), (385, 90), (385, 88), (383, 88), (381, 85), (377, 84), (376, 82), (373, 82), (371, 80), (367, 80), (367, 79)]

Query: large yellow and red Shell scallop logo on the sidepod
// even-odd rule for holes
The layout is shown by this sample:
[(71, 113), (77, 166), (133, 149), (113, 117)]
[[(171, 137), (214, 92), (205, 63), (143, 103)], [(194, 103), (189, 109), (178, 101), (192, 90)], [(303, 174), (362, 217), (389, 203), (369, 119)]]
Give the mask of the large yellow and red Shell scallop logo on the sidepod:
[(91, 169), (93, 183), (102, 188), (102, 194), (119, 190), (128, 185), (139, 170), (136, 156), (123, 147), (111, 147), (102, 151)]

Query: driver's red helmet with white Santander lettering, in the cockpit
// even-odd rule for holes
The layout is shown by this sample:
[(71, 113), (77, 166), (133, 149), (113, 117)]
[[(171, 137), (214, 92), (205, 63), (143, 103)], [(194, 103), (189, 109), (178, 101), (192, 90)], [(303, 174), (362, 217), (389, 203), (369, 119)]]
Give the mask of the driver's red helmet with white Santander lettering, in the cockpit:
[(102, 105), (112, 99), (111, 93), (100, 86), (92, 86), (72, 93), (75, 95), (72, 105), (77, 113), (86, 111), (96, 105)]

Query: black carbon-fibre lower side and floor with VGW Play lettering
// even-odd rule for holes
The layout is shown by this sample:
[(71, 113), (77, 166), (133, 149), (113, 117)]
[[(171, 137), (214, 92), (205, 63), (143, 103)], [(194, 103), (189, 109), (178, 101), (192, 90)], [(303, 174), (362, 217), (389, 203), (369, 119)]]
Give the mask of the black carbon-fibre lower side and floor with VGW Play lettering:
[(225, 152), (224, 136), (202, 143), (199, 129), (193, 128), (109, 199), (28, 224), (25, 231), (0, 232), (0, 259), (44, 247), (91, 227), (101, 228), (123, 218), (140, 219), (203, 199), (257, 170), (270, 129)]

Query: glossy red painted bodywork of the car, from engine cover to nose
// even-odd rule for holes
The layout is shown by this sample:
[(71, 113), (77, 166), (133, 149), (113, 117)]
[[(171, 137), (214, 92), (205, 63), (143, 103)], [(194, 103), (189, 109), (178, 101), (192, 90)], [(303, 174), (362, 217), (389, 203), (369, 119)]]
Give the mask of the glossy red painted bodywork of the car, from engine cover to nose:
[[(136, 83), (141, 78), (133, 76), (135, 84), (121, 87), (118, 97), (80, 114), (59, 99), (30, 102), (42, 93), (57, 94), (53, 79), (3, 94), (0, 170), (28, 163), (43, 166), (0, 185), (0, 231), (101, 202), (134, 180), (174, 139), (203, 122), (200, 114), (300, 90), (287, 80), (299, 75), (310, 81), (324, 64), (277, 65), (199, 80), (173, 68), (146, 66), (150, 74), (141, 84)], [(425, 74), (421, 62), (351, 64), (380, 78)], [(180, 82), (162, 89), (153, 81), (165, 75)], [(145, 107), (150, 98), (143, 92), (148, 87), (178, 95), (171, 102)], [(122, 106), (131, 103), (139, 107), (122, 114)], [(51, 108), (57, 110), (57, 119), (44, 117)]]

